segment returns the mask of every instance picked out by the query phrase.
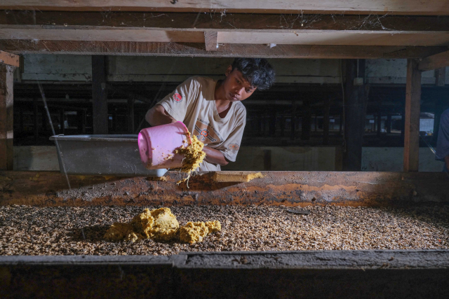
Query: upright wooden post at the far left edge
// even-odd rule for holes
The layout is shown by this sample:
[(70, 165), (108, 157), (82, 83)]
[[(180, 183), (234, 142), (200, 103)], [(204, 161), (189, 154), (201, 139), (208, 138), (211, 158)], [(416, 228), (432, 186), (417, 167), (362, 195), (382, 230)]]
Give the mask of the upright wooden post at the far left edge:
[(0, 64), (0, 170), (13, 170), (13, 71)]

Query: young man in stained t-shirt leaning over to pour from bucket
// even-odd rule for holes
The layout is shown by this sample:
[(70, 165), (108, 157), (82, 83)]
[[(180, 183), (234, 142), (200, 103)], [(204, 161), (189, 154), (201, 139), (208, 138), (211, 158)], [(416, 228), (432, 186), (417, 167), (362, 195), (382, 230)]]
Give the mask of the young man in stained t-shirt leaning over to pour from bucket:
[(241, 101), (274, 82), (271, 65), (259, 58), (236, 58), (225, 76), (220, 81), (189, 78), (145, 116), (152, 126), (182, 121), (205, 144), (201, 172), (220, 170), (220, 165), (236, 160), (246, 125), (246, 109)]

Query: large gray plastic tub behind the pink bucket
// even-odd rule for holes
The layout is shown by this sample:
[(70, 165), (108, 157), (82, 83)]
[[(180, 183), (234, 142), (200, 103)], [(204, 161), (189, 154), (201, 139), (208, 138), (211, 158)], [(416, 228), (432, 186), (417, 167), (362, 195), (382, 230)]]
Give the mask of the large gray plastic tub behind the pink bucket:
[[(140, 160), (138, 135), (58, 135), (61, 173), (163, 176), (167, 169), (146, 169)], [(64, 162), (64, 167), (62, 166)]]

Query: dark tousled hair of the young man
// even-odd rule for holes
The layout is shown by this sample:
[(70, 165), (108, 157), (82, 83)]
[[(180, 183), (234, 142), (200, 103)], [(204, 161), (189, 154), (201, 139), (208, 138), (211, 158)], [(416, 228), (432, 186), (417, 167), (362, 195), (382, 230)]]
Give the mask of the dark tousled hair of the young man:
[(232, 69), (238, 69), (250, 85), (267, 90), (274, 83), (274, 69), (263, 58), (236, 58)]

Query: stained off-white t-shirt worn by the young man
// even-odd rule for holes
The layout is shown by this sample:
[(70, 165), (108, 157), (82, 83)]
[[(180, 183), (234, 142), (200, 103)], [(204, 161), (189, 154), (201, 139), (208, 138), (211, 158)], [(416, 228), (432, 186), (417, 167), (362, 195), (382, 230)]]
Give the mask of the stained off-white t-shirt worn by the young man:
[[(241, 102), (232, 102), (225, 118), (221, 118), (215, 105), (216, 84), (212, 78), (188, 78), (158, 104), (175, 120), (182, 121), (203, 144), (234, 162), (246, 125), (246, 109)], [(217, 171), (220, 165), (204, 161), (198, 170)]]

